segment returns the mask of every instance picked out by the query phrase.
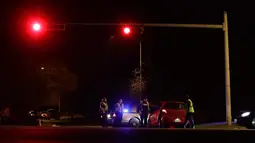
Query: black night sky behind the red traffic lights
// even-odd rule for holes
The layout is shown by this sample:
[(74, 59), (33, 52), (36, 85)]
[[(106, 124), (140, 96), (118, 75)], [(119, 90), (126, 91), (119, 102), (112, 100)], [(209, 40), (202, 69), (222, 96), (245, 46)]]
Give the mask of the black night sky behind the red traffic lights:
[[(26, 20), (48, 23), (153, 22), (222, 24), (229, 16), (232, 107), (251, 104), (253, 97), (253, 17), (249, 4), (234, 2), (65, 1), (1, 2), (2, 101), (37, 94), (35, 69), (61, 61), (78, 76), (71, 97), (80, 108), (97, 107), (102, 96), (112, 102), (129, 95), (128, 79), (139, 66), (139, 36), (121, 35), (121, 27), (67, 26), (37, 37), (27, 33)], [(137, 29), (133, 29), (136, 31)], [(116, 35), (109, 41), (110, 36)], [(197, 109), (215, 120), (225, 119), (224, 37), (222, 30), (145, 28), (145, 74), (152, 101), (182, 98), (189, 93)], [(91, 101), (91, 102), (90, 102)], [(22, 102), (25, 102), (22, 100)], [(0, 101), (1, 103), (1, 101)], [(16, 102), (15, 102), (16, 103)], [(12, 103), (13, 104), (13, 103)], [(91, 108), (90, 108), (91, 109)], [(97, 111), (97, 108), (96, 108)]]

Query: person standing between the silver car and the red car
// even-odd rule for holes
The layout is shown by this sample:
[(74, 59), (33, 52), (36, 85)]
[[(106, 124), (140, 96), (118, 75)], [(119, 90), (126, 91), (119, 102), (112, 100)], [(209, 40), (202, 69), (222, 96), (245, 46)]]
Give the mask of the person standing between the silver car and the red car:
[(141, 113), (141, 126), (147, 126), (147, 119), (148, 119), (148, 114), (149, 114), (149, 102), (147, 98), (144, 98), (140, 105), (140, 113)]

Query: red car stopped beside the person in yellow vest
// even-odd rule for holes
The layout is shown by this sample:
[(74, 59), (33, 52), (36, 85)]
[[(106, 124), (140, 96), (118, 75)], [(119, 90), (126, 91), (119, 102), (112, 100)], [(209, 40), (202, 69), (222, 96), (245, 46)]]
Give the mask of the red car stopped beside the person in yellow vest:
[(150, 127), (168, 128), (183, 127), (185, 123), (185, 103), (179, 101), (165, 101), (158, 105), (148, 119)]

